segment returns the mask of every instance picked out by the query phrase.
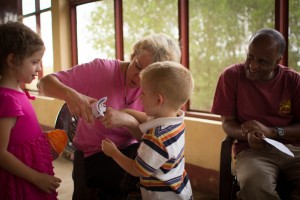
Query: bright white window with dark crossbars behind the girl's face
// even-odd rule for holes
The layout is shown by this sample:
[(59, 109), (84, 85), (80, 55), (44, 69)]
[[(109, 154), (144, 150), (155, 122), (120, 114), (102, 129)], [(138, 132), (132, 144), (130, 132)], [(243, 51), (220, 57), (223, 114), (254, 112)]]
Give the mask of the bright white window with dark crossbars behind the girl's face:
[[(39, 32), (46, 46), (42, 59), (43, 70), (38, 78), (53, 72), (53, 44), (52, 44), (52, 16), (51, 0), (23, 0), (22, 1), (23, 23), (32, 30)], [(36, 91), (37, 79), (25, 88)]]

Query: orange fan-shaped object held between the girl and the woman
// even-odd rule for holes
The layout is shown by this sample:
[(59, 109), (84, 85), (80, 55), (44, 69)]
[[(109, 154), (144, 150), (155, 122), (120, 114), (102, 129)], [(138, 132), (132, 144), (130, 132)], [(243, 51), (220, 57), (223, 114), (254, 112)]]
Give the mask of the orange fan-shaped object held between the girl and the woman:
[(55, 160), (62, 154), (67, 145), (67, 134), (64, 130), (55, 129), (45, 132), (45, 135), (49, 141), (52, 158)]

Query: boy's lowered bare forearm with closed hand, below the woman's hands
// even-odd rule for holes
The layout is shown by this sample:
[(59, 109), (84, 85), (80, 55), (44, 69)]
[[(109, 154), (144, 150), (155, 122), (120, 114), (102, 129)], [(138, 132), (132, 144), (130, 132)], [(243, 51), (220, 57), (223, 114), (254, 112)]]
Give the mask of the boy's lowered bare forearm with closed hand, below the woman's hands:
[(140, 174), (133, 167), (134, 160), (122, 154), (116, 145), (108, 138), (102, 140), (102, 151), (107, 156), (112, 157), (112, 159), (114, 159), (114, 161), (116, 161), (120, 167), (122, 167), (132, 176), (140, 176)]

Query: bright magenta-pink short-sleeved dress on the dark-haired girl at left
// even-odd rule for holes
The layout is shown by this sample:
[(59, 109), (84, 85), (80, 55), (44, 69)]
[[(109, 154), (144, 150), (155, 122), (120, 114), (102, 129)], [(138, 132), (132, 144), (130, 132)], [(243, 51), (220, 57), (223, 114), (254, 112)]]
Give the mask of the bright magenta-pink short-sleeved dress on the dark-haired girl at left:
[[(54, 175), (49, 143), (28, 96), (24, 92), (0, 87), (0, 117), (17, 117), (11, 130), (8, 151), (29, 167)], [(57, 199), (57, 193), (47, 194), (0, 168), (0, 199), (53, 200)]]

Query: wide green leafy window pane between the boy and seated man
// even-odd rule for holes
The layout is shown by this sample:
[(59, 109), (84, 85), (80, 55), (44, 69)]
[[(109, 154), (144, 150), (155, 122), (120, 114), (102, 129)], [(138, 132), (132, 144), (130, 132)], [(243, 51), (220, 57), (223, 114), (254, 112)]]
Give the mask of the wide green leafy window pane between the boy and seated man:
[(220, 73), (244, 62), (253, 32), (275, 27), (274, 8), (274, 0), (189, 1), (189, 68), (195, 79), (190, 110), (210, 110)]

